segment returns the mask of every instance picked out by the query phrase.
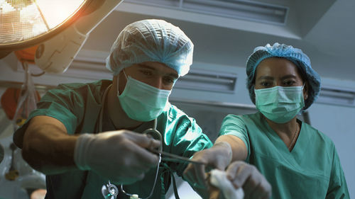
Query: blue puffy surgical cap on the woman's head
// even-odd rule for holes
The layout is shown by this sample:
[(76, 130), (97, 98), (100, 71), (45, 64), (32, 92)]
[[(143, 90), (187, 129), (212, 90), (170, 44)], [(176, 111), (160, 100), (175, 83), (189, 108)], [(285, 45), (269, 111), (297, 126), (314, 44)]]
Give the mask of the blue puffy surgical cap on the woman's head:
[(305, 100), (304, 110), (312, 105), (320, 93), (320, 75), (312, 69), (310, 58), (302, 52), (302, 50), (291, 45), (279, 44), (275, 42), (274, 45), (267, 44), (265, 47), (259, 46), (254, 49), (253, 54), (250, 55), (246, 62), (246, 86), (249, 89), (249, 96), (251, 101), (255, 104), (255, 71), (258, 64), (263, 59), (270, 57), (285, 58), (293, 62), (305, 76), (305, 80), (309, 83), (308, 98)]

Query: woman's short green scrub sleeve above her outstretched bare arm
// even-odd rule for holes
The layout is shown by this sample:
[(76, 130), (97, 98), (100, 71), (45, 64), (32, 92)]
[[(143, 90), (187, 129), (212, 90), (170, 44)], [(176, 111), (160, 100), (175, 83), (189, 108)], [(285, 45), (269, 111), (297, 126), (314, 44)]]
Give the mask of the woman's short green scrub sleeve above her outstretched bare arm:
[[(226, 118), (222, 121), (221, 130), (219, 131), (219, 136), (221, 135), (234, 135), (243, 140), (248, 151), (248, 157), (250, 155), (250, 141), (249, 135), (246, 127), (246, 120), (242, 120), (241, 115), (226, 115)], [(247, 157), (247, 158), (248, 158)]]

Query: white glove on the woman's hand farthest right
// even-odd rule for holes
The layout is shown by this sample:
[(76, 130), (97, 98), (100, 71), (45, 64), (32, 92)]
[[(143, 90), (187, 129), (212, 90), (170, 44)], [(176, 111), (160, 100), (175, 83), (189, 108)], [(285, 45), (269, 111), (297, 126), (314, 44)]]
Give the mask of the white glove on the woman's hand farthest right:
[(226, 176), (234, 188), (243, 187), (244, 198), (270, 198), (271, 185), (266, 178), (251, 164), (234, 161), (226, 169)]

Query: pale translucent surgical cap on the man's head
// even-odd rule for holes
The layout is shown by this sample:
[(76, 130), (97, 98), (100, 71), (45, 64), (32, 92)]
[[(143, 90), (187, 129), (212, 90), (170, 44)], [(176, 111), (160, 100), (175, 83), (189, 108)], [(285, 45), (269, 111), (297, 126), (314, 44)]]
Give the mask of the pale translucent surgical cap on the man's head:
[(179, 76), (189, 72), (194, 45), (184, 32), (163, 20), (147, 19), (131, 23), (121, 31), (106, 59), (114, 75), (141, 62), (161, 62)]

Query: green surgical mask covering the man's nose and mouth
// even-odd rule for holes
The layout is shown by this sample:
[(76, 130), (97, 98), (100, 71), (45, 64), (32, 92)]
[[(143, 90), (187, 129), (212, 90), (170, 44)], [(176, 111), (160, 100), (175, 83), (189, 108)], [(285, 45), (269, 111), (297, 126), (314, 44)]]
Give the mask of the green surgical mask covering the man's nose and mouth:
[[(126, 75), (126, 74), (125, 74)], [(148, 122), (158, 118), (163, 112), (170, 90), (157, 89), (141, 81), (126, 76), (124, 91), (117, 96), (124, 112), (133, 120)], [(117, 81), (118, 82), (118, 81)]]

